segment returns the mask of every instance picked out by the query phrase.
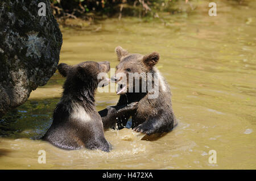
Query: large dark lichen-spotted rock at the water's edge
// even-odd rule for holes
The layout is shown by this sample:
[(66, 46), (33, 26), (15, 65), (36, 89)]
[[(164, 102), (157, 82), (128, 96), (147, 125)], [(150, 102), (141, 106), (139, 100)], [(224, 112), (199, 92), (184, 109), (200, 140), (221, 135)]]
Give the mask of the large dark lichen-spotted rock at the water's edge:
[[(45, 16), (38, 14), (40, 2), (46, 5)], [(0, 117), (47, 83), (56, 71), (61, 45), (48, 0), (0, 1)]]

